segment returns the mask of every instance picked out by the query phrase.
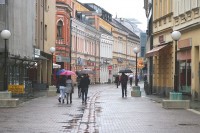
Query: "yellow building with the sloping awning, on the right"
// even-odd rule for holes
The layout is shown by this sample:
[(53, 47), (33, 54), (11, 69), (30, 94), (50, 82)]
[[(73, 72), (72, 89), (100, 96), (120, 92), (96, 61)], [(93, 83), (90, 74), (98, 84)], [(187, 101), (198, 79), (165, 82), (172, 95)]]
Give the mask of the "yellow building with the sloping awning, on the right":
[(154, 0), (153, 49), (146, 57), (153, 58), (153, 93), (168, 95), (173, 90), (174, 53), (171, 32), (173, 13), (171, 0)]

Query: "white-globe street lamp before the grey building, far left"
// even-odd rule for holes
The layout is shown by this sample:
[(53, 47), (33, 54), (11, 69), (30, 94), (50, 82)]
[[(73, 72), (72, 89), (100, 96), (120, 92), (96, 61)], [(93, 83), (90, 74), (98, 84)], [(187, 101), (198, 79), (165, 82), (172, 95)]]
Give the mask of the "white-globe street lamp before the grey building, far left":
[(6, 41), (10, 38), (11, 33), (9, 30), (3, 30), (1, 32), (1, 38), (5, 40), (5, 66), (4, 66), (4, 90), (8, 90), (8, 76), (7, 76), (7, 58), (8, 58), (8, 53), (7, 53), (7, 45)]

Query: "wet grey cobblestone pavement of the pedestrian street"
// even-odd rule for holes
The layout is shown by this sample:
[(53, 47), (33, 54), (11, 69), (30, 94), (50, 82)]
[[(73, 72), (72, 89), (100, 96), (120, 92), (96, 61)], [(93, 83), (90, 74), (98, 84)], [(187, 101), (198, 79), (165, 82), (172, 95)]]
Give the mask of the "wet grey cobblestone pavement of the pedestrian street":
[[(141, 88), (142, 88), (142, 84)], [(114, 84), (92, 85), (87, 104), (78, 98), (60, 104), (57, 97), (39, 97), (17, 108), (0, 108), (0, 133), (199, 133), (200, 115), (163, 109), (146, 97), (121, 97)]]

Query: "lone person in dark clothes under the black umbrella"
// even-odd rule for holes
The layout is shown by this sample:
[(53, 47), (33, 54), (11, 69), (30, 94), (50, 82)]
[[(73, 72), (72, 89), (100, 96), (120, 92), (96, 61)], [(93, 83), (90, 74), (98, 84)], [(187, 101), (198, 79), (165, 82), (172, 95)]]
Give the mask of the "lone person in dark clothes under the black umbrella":
[(121, 82), (121, 87), (122, 87), (122, 97), (124, 97), (124, 94), (127, 97), (128, 76), (125, 75), (125, 73), (122, 73), (121, 78), (120, 78), (120, 82)]

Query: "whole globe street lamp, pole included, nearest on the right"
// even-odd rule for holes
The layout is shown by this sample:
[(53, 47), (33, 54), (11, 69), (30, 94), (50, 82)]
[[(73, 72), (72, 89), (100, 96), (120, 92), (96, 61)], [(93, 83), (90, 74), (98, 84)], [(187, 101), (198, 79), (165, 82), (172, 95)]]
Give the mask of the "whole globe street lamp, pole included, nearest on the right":
[(179, 84), (179, 80), (178, 80), (178, 62), (177, 62), (177, 41), (180, 39), (181, 37), (181, 33), (179, 31), (173, 31), (172, 34), (172, 39), (175, 41), (175, 72), (174, 72), (174, 91), (178, 92), (178, 84)]

